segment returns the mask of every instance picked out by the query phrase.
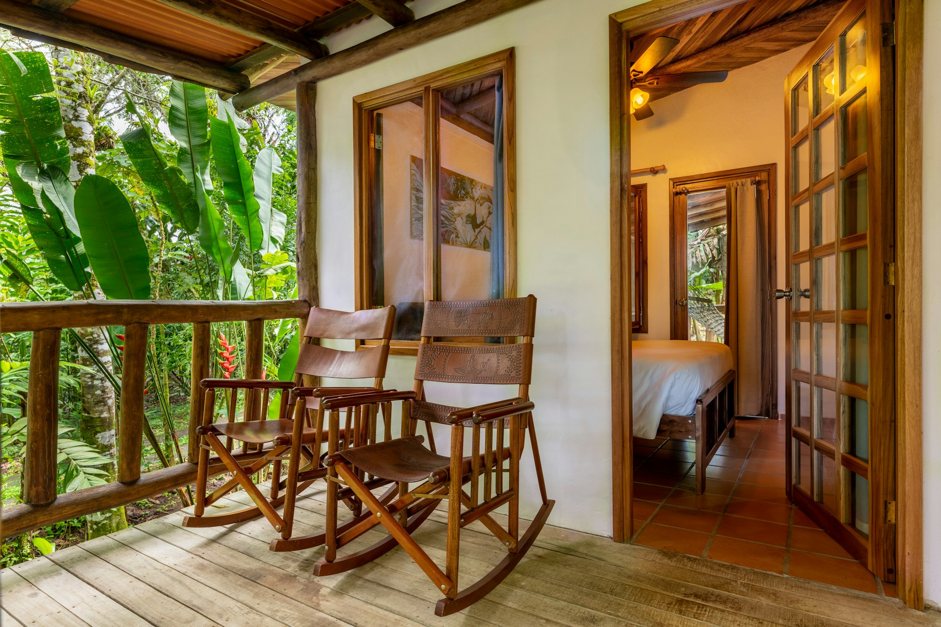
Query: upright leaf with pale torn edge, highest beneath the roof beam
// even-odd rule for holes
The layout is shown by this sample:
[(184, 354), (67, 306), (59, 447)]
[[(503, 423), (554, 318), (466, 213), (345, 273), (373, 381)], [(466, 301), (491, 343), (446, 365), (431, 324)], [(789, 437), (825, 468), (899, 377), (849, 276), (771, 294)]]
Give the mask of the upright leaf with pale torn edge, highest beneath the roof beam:
[(206, 89), (189, 83), (173, 81), (170, 84), (170, 133), (180, 145), (177, 165), (189, 183), (193, 196), (199, 198), (196, 180), (202, 180), (203, 189), (213, 189), (209, 180), (209, 103)]

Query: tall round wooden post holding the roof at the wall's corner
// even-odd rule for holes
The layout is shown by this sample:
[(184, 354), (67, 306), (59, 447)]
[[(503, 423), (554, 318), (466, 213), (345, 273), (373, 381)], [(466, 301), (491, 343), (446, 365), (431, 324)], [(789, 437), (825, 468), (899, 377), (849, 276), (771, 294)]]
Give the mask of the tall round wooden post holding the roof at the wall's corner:
[[(320, 306), (317, 263), (317, 86), (297, 86), (297, 296), (311, 307)], [(304, 333), (307, 316), (300, 320)], [(317, 385), (316, 377), (304, 376), (303, 384)]]

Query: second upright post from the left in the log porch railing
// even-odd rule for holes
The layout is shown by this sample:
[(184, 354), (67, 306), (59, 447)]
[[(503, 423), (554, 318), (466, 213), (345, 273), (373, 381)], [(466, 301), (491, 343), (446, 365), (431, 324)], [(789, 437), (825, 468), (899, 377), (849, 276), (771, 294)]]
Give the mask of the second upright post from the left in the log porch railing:
[(140, 478), (144, 436), (144, 375), (147, 369), (147, 324), (124, 327), (124, 359), (120, 377), (118, 425), (118, 480), (133, 483)]

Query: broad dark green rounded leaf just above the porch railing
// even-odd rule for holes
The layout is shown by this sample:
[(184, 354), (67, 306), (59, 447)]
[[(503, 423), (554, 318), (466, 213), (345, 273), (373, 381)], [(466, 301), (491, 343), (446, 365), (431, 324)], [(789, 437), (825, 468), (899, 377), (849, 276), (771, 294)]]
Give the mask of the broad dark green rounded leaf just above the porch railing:
[(131, 203), (117, 185), (89, 174), (75, 192), (75, 219), (88, 261), (108, 298), (151, 296), (150, 259)]

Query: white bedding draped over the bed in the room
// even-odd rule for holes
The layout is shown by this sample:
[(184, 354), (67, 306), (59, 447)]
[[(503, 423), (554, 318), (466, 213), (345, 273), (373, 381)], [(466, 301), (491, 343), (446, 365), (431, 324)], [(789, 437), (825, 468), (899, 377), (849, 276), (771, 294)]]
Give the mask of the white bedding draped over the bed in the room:
[(693, 415), (696, 398), (732, 369), (732, 352), (718, 342), (646, 340), (631, 349), (634, 435), (647, 440), (662, 415)]

